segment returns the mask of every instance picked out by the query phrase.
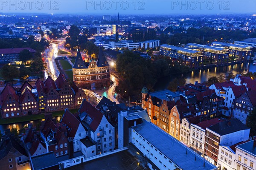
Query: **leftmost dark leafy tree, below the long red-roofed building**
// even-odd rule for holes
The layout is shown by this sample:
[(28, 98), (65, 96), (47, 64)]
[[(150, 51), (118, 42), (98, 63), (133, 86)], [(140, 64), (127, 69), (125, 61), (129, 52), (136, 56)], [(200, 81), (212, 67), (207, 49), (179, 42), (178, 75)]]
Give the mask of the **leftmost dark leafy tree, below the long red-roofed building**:
[(10, 66), (8, 64), (4, 65), (3, 68), (3, 78), (5, 80), (9, 79), (12, 82), (19, 75), (19, 70), (15, 66)]

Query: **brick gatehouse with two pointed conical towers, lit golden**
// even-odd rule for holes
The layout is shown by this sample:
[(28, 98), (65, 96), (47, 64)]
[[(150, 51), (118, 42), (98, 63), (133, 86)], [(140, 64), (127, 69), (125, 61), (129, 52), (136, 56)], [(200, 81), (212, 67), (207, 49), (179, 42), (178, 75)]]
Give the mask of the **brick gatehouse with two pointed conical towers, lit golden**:
[(98, 87), (110, 85), (109, 64), (104, 56), (103, 49), (100, 47), (97, 62), (92, 60), (86, 65), (82, 59), (80, 50), (76, 54), (76, 61), (73, 65), (73, 81), (79, 87), (90, 87), (95, 83)]

